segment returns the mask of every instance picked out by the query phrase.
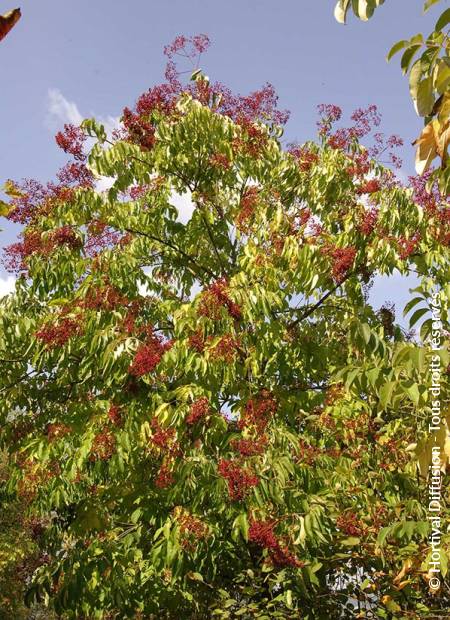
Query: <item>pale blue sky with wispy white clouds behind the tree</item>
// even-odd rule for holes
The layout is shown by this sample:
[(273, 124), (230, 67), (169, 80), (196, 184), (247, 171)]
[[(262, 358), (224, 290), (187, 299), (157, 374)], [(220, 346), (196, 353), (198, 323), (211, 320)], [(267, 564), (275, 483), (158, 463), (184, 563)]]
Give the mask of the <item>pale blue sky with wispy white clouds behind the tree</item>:
[[(370, 103), (382, 130), (401, 135), (404, 173), (413, 172), (415, 115), (392, 43), (428, 33), (440, 6), (422, 14), (422, 0), (387, 0), (368, 23), (333, 17), (334, 0), (24, 0), (22, 19), (0, 43), (0, 183), (47, 180), (64, 162), (53, 136), (64, 122), (117, 117), (163, 77), (162, 48), (178, 34), (207, 33), (213, 46), (202, 68), (242, 93), (274, 84), (291, 110), (286, 137), (314, 137), (316, 105), (349, 113)], [(442, 6), (442, 5), (441, 5)], [(0, 13), (12, 8), (0, 0)], [(2, 223), (0, 245), (15, 235)], [(0, 292), (6, 274), (0, 271)], [(11, 283), (11, 282), (10, 282)], [(379, 289), (379, 290), (378, 290)], [(376, 301), (407, 294), (399, 281), (377, 285)]]

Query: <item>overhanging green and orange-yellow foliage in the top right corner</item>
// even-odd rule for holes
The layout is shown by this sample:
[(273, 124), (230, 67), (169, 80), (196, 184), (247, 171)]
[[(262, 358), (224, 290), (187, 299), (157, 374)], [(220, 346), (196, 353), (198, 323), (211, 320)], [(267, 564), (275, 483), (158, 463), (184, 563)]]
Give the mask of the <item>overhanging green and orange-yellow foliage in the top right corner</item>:
[[(426, 0), (424, 12), (440, 0)], [(345, 23), (351, 8), (363, 21), (372, 17), (384, 0), (338, 0), (334, 15), (338, 22)], [(450, 166), (448, 166), (448, 145), (450, 144), (450, 8), (447, 8), (436, 21), (433, 32), (424, 39), (416, 34), (410, 39), (397, 41), (387, 55), (390, 60), (403, 50), (401, 68), (404, 75), (409, 73), (409, 90), (417, 114), (424, 118), (425, 128), (414, 142), (417, 145), (416, 170), (426, 173), (438, 157), (441, 168), (427, 175), (428, 189), (434, 183), (440, 191), (450, 194)], [(417, 54), (421, 51), (419, 58)], [(416, 60), (414, 60), (416, 58)]]

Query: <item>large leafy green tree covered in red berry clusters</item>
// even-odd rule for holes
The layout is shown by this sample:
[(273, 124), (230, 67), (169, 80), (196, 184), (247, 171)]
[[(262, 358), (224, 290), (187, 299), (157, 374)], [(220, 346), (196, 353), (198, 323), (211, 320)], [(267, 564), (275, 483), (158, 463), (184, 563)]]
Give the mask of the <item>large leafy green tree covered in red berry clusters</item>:
[(47, 554), (27, 601), (67, 618), (448, 609), (426, 566), (431, 353), (367, 301), (374, 274), (414, 270), (422, 340), (432, 300), (447, 320), (442, 197), (376, 161), (398, 138), (360, 144), (375, 106), (345, 127), (323, 105), (319, 141), (283, 148), (272, 87), (211, 83), (207, 46), (168, 46), (167, 82), (113, 136), (66, 126), (57, 182), (7, 187), (25, 229), (6, 253), (1, 438)]

